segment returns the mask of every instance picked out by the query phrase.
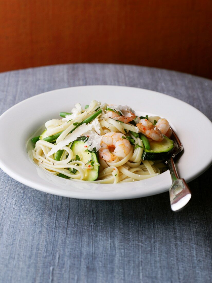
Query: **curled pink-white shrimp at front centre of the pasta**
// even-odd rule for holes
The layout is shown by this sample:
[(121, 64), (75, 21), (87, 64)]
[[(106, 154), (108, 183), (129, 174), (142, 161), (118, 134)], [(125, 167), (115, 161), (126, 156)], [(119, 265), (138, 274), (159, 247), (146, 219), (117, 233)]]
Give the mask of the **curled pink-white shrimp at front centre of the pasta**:
[(100, 158), (106, 161), (114, 161), (116, 157), (126, 157), (131, 149), (129, 140), (122, 138), (121, 133), (106, 133), (101, 140), (99, 149)]

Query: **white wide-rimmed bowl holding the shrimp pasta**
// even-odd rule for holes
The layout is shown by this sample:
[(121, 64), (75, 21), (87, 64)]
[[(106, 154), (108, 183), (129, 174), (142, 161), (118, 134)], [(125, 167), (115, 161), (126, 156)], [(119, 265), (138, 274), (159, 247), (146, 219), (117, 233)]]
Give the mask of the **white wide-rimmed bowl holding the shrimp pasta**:
[(53, 176), (29, 160), (27, 141), (38, 133), (38, 129), (47, 120), (59, 118), (59, 112), (70, 112), (77, 102), (85, 106), (92, 99), (110, 104), (127, 104), (138, 113), (165, 117), (183, 144), (184, 152), (176, 166), (180, 177), (187, 182), (198, 177), (211, 165), (212, 123), (200, 111), (181, 100), (155, 91), (97, 85), (42, 93), (3, 113), (0, 116), (0, 130), (3, 133), (0, 140), (0, 167), (27, 186), (71, 198), (114, 200), (167, 191), (171, 186), (169, 171), (133, 183), (94, 184)]

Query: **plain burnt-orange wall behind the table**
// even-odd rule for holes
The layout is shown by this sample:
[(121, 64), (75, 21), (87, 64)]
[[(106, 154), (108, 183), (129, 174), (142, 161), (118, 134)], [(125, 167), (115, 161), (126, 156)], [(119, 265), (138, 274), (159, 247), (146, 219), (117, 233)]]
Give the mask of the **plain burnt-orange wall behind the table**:
[(123, 63), (212, 78), (210, 0), (1, 0), (0, 71)]

